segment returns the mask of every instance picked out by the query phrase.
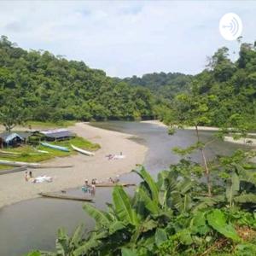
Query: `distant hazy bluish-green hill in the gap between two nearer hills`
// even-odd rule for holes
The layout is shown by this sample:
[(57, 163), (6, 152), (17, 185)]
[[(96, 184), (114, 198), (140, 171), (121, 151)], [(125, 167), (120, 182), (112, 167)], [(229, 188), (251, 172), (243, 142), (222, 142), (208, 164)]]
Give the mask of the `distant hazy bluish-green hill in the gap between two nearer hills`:
[(179, 92), (189, 91), (189, 84), (192, 80), (192, 75), (183, 73), (147, 73), (141, 78), (132, 76), (125, 78), (125, 81), (131, 85), (141, 85), (151, 90), (156, 96), (161, 96), (166, 99), (172, 99)]

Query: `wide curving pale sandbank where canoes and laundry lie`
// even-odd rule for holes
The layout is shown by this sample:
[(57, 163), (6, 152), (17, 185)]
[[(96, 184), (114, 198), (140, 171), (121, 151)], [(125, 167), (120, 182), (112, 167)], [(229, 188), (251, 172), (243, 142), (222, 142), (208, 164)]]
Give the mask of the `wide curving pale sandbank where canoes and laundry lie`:
[[(68, 128), (93, 143), (99, 143), (101, 149), (94, 157), (76, 154), (69, 157), (55, 158), (47, 165), (70, 168), (29, 169), (34, 177), (47, 175), (53, 177), (52, 183), (29, 183), (24, 179), (24, 172), (15, 172), (0, 176), (0, 207), (38, 197), (40, 192), (59, 191), (61, 189), (82, 186), (84, 179), (97, 178), (106, 180), (117, 174), (130, 172), (136, 164), (143, 164), (147, 148), (129, 140), (131, 135), (117, 131), (107, 131), (84, 123), (77, 123)], [(123, 160), (108, 160), (106, 154), (125, 154)]]

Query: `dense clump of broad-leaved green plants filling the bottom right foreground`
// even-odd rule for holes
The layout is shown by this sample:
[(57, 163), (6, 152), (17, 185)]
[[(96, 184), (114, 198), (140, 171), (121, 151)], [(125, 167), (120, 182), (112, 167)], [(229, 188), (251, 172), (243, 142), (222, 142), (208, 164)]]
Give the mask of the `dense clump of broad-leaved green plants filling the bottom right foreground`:
[[(185, 166), (189, 169), (191, 165)], [(200, 180), (192, 181), (177, 170), (172, 166), (169, 171), (160, 172), (154, 181), (139, 166), (135, 172), (142, 182), (132, 198), (116, 186), (108, 212), (85, 204), (85, 212), (96, 221), (95, 229), (82, 240), (81, 228), (72, 238), (60, 230), (57, 253), (42, 255), (253, 255), (256, 216), (252, 208), (242, 204), (230, 207), (226, 203), (230, 196), (225, 201), (227, 191), (221, 189), (218, 195), (207, 197), (214, 204), (199, 207), (206, 198), (204, 186)], [(238, 186), (239, 172), (233, 173), (229, 192), (235, 201), (240, 193), (246, 194)]]

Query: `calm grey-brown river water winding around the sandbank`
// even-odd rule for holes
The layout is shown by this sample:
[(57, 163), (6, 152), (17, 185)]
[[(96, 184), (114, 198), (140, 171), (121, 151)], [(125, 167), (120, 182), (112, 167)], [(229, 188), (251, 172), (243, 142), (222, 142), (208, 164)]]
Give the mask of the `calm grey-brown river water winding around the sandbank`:
[[(148, 152), (144, 166), (154, 176), (179, 160), (172, 153), (173, 147), (188, 147), (196, 142), (195, 131), (182, 130), (168, 136), (165, 127), (140, 122), (112, 121), (91, 125), (130, 133), (131, 140), (146, 145)], [(201, 131), (202, 141), (207, 142), (211, 138), (212, 132)], [(207, 157), (231, 154), (237, 148), (241, 146), (218, 140), (207, 148)], [(200, 161), (201, 157), (193, 154), (191, 159)], [(139, 182), (133, 173), (123, 175), (121, 180)], [(128, 189), (129, 193), (131, 191), (132, 189)], [(80, 188), (70, 189), (70, 193), (82, 195)], [(105, 203), (111, 201), (111, 189), (97, 189), (95, 201), (96, 207), (104, 209)], [(82, 206), (83, 203), (78, 201), (38, 198), (3, 207), (0, 209), (0, 255), (20, 256), (32, 249), (52, 250), (55, 248), (56, 231), (60, 227), (65, 227), (70, 234), (78, 224), (84, 223), (86, 229), (90, 230), (94, 222), (85, 214)]]

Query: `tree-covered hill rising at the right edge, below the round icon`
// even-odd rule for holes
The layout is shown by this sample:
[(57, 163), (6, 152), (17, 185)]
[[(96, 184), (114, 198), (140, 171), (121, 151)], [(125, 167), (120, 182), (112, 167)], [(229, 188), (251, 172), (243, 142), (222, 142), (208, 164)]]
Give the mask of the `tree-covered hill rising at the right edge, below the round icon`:
[(218, 49), (207, 68), (193, 78), (190, 89), (176, 96), (169, 113), (160, 109), (159, 116), (197, 125), (247, 124), (255, 131), (256, 44), (241, 44), (236, 61), (230, 60), (229, 49)]

